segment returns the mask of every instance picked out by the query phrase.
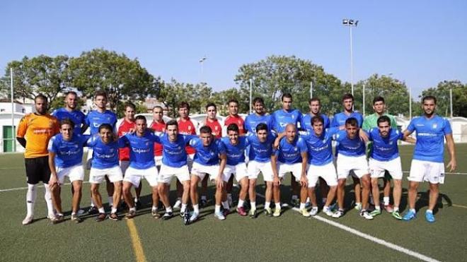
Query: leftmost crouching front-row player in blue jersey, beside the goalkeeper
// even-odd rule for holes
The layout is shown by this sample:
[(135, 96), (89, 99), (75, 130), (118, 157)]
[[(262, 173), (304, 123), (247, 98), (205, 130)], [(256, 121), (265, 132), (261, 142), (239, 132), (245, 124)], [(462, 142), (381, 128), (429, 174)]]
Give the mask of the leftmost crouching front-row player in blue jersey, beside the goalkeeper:
[(71, 221), (81, 222), (78, 216), (79, 202), (81, 201), (81, 188), (83, 187), (83, 145), (87, 137), (74, 134), (74, 122), (70, 119), (60, 121), (60, 133), (53, 136), (49, 141), (49, 168), (50, 168), (50, 191), (54, 200), (57, 215), (52, 222), (62, 222), (62, 199), (60, 198), (60, 186), (68, 177), (73, 186), (73, 200), (71, 203)]

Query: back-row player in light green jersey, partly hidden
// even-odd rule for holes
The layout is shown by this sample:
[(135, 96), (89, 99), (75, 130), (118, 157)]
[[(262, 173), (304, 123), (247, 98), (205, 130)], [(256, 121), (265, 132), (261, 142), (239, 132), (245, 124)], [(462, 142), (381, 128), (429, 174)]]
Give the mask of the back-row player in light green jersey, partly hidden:
[[(391, 116), (391, 114), (386, 114), (386, 104), (384, 102), (383, 97), (374, 97), (373, 110), (374, 110), (374, 114), (370, 114), (369, 116), (365, 117), (363, 121), (362, 129), (364, 131), (369, 131), (370, 129), (374, 129), (378, 127), (378, 124), (376, 122), (381, 116), (387, 116), (391, 121), (391, 129), (397, 130), (396, 119), (393, 116)], [(371, 154), (371, 150), (372, 150), (372, 143), (369, 143), (368, 145), (369, 154)], [(384, 197), (383, 197), (384, 209), (388, 213), (392, 213), (393, 206), (391, 206), (391, 204), (389, 203), (389, 194), (391, 193), (391, 175), (388, 174), (387, 171), (384, 174), (383, 180), (384, 180), (384, 191), (383, 191), (384, 192)], [(373, 183), (371, 182), (371, 184)], [(376, 204), (376, 201), (375, 201), (375, 204)]]

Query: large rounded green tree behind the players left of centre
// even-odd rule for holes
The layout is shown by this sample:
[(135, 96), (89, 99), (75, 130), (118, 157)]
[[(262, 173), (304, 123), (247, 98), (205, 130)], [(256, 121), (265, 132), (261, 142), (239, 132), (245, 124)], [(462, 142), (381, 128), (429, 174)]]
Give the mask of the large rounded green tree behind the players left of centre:
[(104, 90), (111, 109), (121, 100), (144, 100), (157, 91), (154, 76), (137, 59), (129, 59), (125, 54), (93, 49), (71, 59), (69, 64), (74, 88), (86, 97)]

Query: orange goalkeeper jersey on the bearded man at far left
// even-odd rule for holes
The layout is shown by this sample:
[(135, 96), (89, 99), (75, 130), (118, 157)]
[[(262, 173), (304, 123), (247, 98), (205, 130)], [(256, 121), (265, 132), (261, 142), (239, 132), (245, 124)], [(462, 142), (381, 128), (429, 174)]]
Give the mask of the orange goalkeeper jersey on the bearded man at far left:
[(59, 122), (50, 114), (29, 114), (18, 126), (16, 137), (26, 139), (24, 157), (35, 158), (49, 155), (47, 145), (50, 138), (59, 133)]

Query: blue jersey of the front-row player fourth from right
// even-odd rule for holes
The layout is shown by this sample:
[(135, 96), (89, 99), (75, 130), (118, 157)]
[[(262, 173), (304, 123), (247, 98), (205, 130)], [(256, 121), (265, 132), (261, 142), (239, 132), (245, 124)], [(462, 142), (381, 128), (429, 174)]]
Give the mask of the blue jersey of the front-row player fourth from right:
[(306, 153), (306, 143), (303, 138), (297, 137), (292, 143), (287, 141), (284, 136), (279, 141), (279, 148), (277, 148), (275, 155), (278, 156), (277, 160), (284, 164), (295, 164), (301, 162), (301, 153)]

